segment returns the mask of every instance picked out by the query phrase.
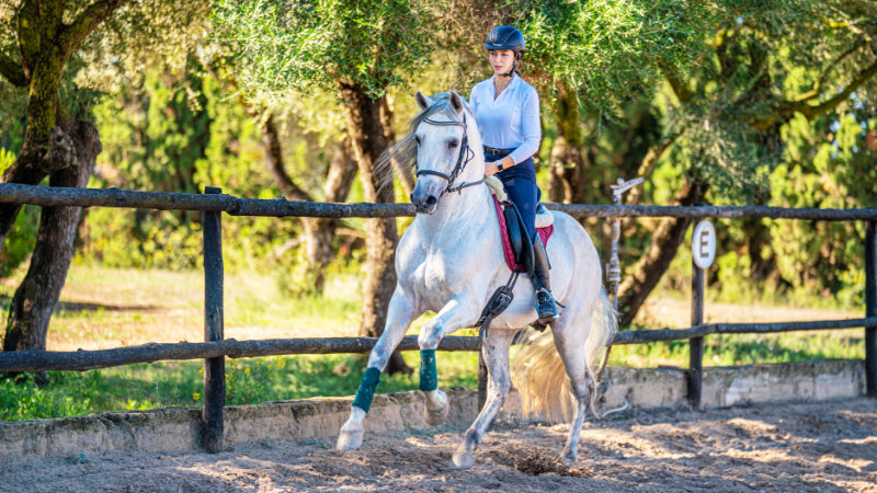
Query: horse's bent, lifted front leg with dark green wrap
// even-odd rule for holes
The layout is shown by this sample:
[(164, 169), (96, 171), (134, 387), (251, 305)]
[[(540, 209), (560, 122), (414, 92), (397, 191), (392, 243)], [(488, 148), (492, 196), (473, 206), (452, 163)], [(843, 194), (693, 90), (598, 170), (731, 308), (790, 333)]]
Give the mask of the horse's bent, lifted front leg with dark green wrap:
[(438, 389), (438, 372), (435, 368), (435, 348), (442, 337), (455, 332), (477, 318), (475, 310), (463, 299), (453, 299), (430, 320), (418, 336), (420, 345), (420, 390), (426, 399), (426, 423), (436, 426), (447, 420), (451, 406), (447, 394)]

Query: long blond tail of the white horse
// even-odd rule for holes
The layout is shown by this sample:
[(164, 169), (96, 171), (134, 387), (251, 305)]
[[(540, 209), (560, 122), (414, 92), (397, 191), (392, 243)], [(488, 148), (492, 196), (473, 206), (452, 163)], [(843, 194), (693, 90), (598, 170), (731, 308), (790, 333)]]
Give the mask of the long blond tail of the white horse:
[[(615, 336), (618, 321), (605, 290), (593, 307), (591, 328), (584, 343), (585, 378), (591, 387), (591, 410), (595, 412), (596, 381), (593, 365), (601, 351)], [(576, 411), (563, 360), (557, 352), (554, 334), (536, 332), (527, 336), (512, 363), (514, 387), (521, 393), (526, 415), (542, 415), (551, 422), (569, 421)], [(596, 414), (596, 413), (595, 413)]]

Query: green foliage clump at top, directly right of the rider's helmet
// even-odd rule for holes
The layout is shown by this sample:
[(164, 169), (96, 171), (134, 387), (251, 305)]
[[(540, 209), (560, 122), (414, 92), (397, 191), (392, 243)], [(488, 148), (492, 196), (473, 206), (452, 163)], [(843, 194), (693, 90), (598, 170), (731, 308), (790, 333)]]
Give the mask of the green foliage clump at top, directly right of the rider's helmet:
[(662, 70), (687, 68), (703, 49), (697, 2), (545, 0), (519, 2), (526, 59), (547, 80), (543, 98), (576, 88), (590, 111), (618, 112), (619, 101), (654, 87)]

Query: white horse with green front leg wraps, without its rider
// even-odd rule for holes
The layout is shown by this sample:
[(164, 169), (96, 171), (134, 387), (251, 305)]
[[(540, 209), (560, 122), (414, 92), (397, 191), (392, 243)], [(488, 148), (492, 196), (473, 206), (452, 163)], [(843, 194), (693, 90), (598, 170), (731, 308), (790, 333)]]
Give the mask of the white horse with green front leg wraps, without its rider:
[[(403, 144), (410, 142), (411, 160), (415, 157), (418, 169), (411, 202), (418, 215), (396, 251), (398, 283), (387, 324), (369, 355), (350, 419), (341, 428), (339, 449), (355, 449), (362, 444), (363, 419), (378, 377), (408, 326), (426, 310), (436, 316), (418, 337), (425, 417), (432, 425), (447, 417), (447, 395), (436, 386), (435, 348), (445, 335), (474, 326), (493, 291), (511, 275), (502, 255), (492, 198), (482, 183), (485, 159), (471, 108), (455, 92), (432, 99), (418, 92), (415, 99), (421, 112), (402, 145), (397, 145), (394, 158), (405, 159)], [(539, 341), (531, 346), (535, 349), (529, 354), (532, 360), (516, 365), (524, 375), (515, 372), (515, 387), (525, 409), (548, 416), (568, 414), (572, 406), (569, 395), (574, 397), (572, 426), (561, 452), (561, 459), (570, 462), (577, 459), (579, 434), (591, 403), (592, 364), (612, 340), (616, 323), (602, 289), (600, 260), (591, 238), (572, 217), (562, 213), (554, 216), (555, 232), (547, 250), (554, 265), (553, 293), (563, 307), (560, 318), (551, 323), (551, 346), (557, 351), (546, 351), (550, 333), (539, 334)], [(512, 303), (492, 321), (481, 348), (490, 377), (487, 402), (454, 452), (452, 467), (471, 467), (472, 451), (512, 387), (512, 339), (537, 319), (532, 284), (517, 283), (513, 293)], [(563, 376), (565, 368), (569, 379)]]

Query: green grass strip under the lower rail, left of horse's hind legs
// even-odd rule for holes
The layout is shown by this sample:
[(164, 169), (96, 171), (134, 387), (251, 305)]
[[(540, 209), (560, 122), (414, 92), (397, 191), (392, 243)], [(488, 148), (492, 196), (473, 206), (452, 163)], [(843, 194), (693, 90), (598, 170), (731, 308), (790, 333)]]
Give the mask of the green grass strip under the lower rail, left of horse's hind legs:
[[(403, 353), (413, 375), (381, 376), (378, 393), (418, 388), (417, 352)], [(226, 402), (254, 404), (312, 397), (352, 395), (365, 370), (365, 355), (300, 355), (228, 359)], [(476, 387), (476, 353), (441, 353), (438, 385)], [(49, 371), (38, 387), (0, 380), (0, 421), (78, 416), (94, 412), (200, 406), (204, 391), (200, 362), (164, 362), (83, 372)]]

